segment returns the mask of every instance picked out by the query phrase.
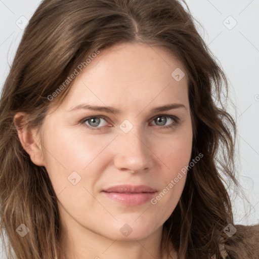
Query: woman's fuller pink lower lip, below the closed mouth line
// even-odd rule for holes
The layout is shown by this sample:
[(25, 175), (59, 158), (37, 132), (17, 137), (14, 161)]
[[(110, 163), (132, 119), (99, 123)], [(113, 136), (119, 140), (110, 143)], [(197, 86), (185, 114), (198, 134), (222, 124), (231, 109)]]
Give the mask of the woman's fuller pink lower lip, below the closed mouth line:
[(123, 203), (125, 205), (141, 205), (148, 200), (151, 200), (156, 192), (145, 192), (145, 193), (117, 193), (117, 192), (102, 192), (106, 197)]

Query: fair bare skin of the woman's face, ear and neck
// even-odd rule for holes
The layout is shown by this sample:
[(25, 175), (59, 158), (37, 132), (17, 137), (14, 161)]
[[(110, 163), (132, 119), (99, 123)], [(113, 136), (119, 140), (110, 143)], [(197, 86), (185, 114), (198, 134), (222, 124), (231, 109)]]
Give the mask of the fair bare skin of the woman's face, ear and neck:
[[(180, 81), (171, 76), (176, 68), (186, 75)], [(172, 103), (186, 108), (151, 112)], [(110, 106), (120, 114), (69, 111), (79, 104)], [(106, 119), (82, 123), (98, 115)], [(174, 115), (179, 123), (159, 115)], [(159, 124), (159, 117), (164, 124)], [(128, 133), (119, 127), (125, 119), (133, 126)], [(162, 128), (170, 124), (174, 126)], [(128, 206), (101, 191), (132, 184), (148, 185), (159, 194), (189, 164), (188, 79), (175, 56), (160, 47), (136, 43), (100, 50), (76, 76), (64, 102), (49, 111), (39, 131), (19, 131), (19, 138), (31, 160), (46, 167), (58, 195), (62, 250), (66, 248), (67, 258), (165, 258), (159, 256), (162, 225), (181, 197), (186, 176), (156, 204)], [(81, 177), (76, 185), (68, 181), (73, 171)], [(132, 229), (128, 236), (120, 232), (124, 224)]]

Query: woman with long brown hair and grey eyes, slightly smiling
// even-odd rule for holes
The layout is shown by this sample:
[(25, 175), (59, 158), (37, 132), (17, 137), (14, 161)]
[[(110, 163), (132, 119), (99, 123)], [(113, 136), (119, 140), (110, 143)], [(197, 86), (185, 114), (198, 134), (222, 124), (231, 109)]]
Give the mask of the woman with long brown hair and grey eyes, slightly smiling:
[(222, 177), (238, 187), (227, 80), (193, 20), (171, 0), (38, 7), (1, 98), (16, 258), (258, 257)]

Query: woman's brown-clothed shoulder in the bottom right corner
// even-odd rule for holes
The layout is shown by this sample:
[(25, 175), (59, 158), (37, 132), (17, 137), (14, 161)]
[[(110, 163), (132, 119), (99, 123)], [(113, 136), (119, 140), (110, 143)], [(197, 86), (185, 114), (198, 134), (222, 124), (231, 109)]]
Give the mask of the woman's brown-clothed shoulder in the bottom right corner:
[(236, 233), (225, 243), (226, 259), (259, 259), (259, 225), (235, 225)]

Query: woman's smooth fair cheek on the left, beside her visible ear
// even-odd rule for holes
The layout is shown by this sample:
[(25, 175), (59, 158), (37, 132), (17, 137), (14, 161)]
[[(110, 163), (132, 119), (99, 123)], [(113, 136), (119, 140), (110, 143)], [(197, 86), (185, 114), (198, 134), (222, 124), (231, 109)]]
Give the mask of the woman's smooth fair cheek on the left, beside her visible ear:
[[(102, 153), (105, 153), (104, 149), (112, 138), (49, 127), (44, 138), (44, 159), (55, 192), (58, 194), (64, 188), (68, 192), (75, 186), (91, 189), (100, 177), (106, 159)], [(72, 179), (75, 179), (76, 185), (73, 185)]]

